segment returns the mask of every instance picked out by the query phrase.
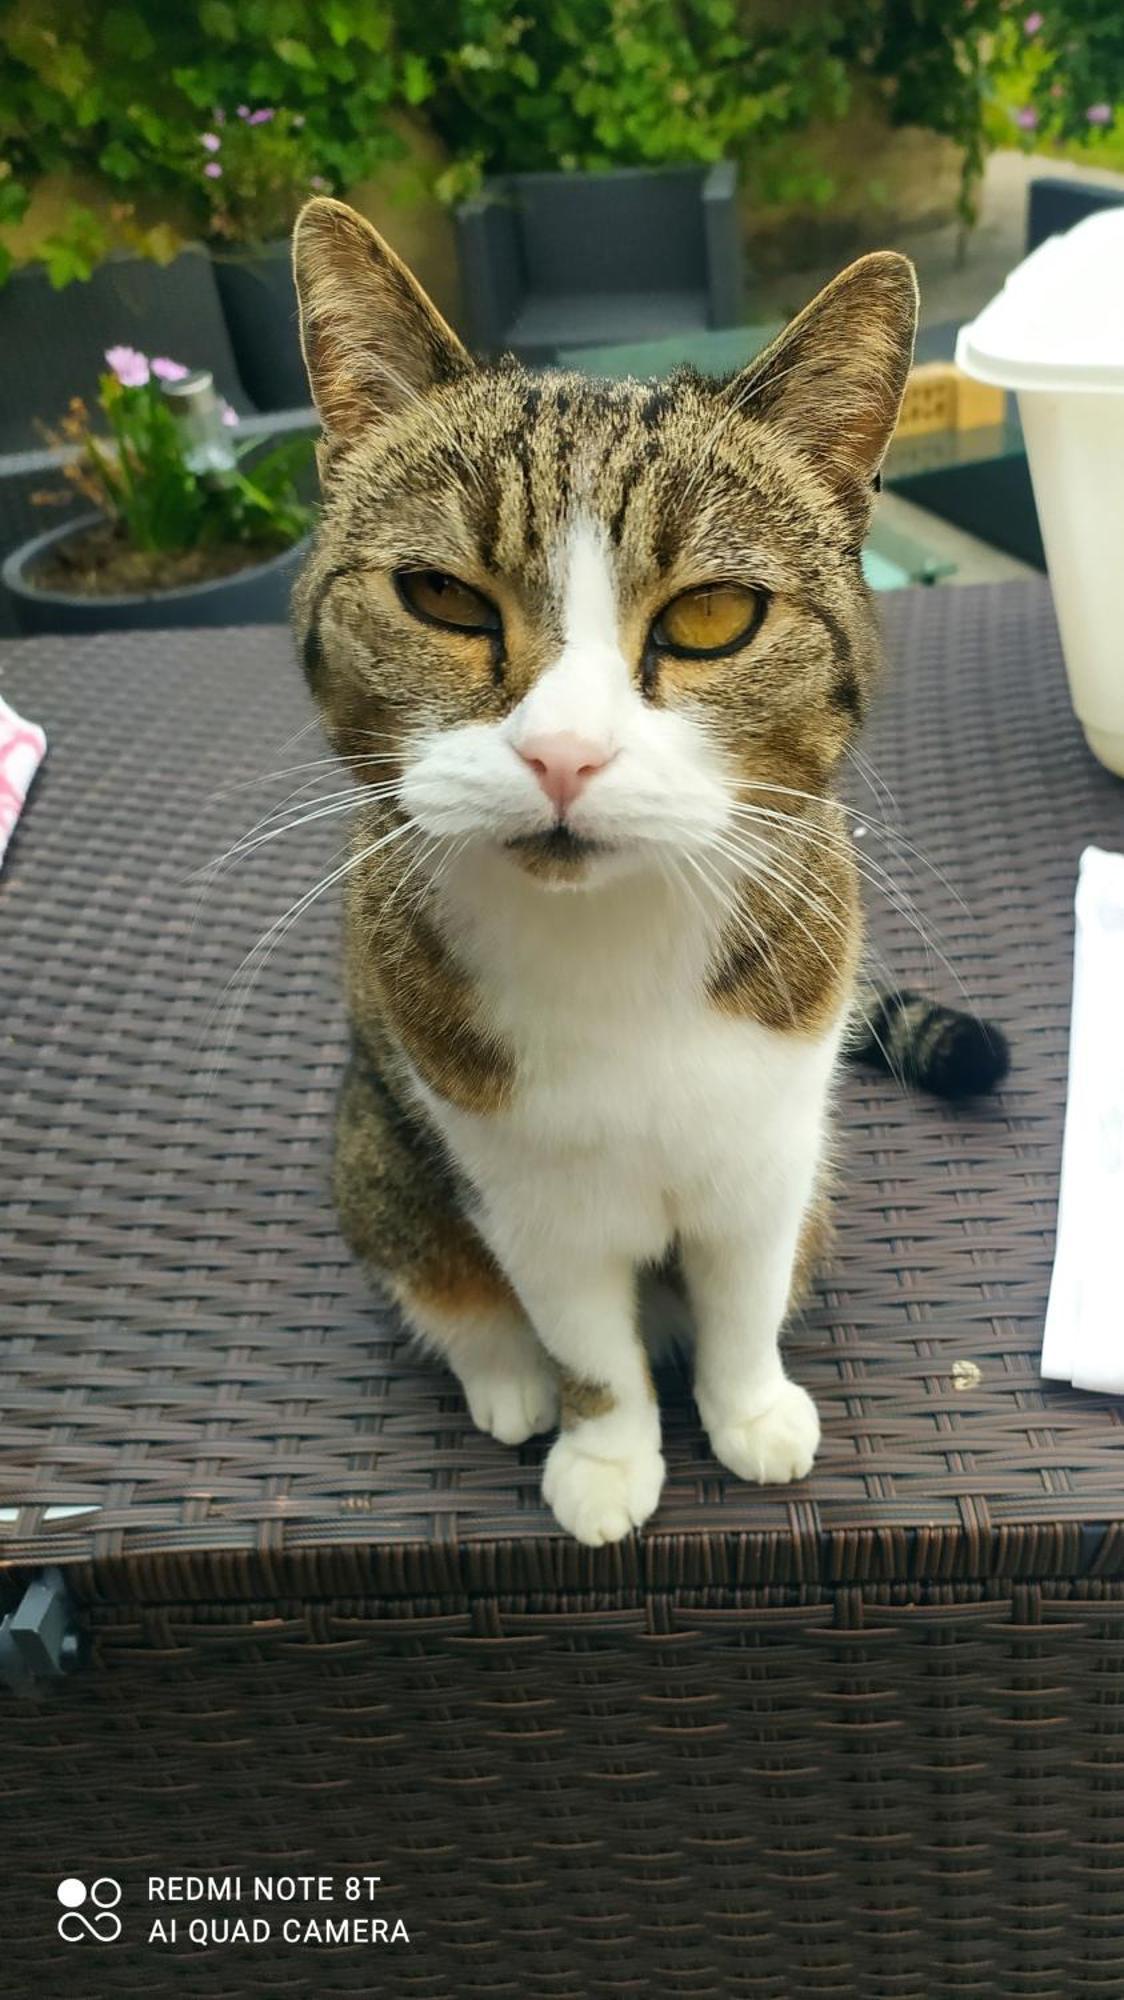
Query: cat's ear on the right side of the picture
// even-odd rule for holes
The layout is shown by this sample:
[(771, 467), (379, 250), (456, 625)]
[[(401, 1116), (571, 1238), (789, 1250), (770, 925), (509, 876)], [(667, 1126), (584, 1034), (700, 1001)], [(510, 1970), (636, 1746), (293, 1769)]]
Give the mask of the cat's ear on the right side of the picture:
[(782, 430), (836, 490), (868, 490), (894, 436), (916, 324), (914, 266), (878, 250), (848, 264), (722, 394)]

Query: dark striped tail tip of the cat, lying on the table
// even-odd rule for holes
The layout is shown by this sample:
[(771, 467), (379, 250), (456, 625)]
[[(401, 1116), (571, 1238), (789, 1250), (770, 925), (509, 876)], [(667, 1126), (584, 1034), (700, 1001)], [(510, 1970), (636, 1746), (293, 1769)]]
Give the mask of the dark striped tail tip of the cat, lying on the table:
[(980, 1096), (1010, 1070), (1010, 1046), (994, 1022), (918, 992), (874, 986), (858, 996), (844, 1054), (938, 1098)]

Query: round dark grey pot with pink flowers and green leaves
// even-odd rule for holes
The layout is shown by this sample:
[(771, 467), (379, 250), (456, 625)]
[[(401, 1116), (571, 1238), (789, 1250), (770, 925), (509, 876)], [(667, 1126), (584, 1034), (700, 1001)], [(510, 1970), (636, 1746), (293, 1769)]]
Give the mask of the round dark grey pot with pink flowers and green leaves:
[[(298, 490), (308, 436), (254, 456), (208, 374), (110, 348), (98, 406), (74, 398), (52, 444), (92, 510), (4, 562), (22, 632), (268, 624), (288, 612), (312, 508)], [(176, 414), (178, 410), (178, 414)], [(42, 496), (46, 500), (54, 496)]]

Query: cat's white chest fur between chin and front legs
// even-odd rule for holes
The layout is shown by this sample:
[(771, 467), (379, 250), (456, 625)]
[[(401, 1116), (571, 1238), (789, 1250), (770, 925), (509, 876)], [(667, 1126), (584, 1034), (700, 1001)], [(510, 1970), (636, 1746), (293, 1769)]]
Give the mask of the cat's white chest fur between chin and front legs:
[(430, 1116), (502, 1228), (658, 1258), (818, 1150), (838, 1030), (808, 1040), (706, 996), (706, 912), (662, 886), (594, 896), (482, 884), (462, 950), (514, 1050), (510, 1106)]

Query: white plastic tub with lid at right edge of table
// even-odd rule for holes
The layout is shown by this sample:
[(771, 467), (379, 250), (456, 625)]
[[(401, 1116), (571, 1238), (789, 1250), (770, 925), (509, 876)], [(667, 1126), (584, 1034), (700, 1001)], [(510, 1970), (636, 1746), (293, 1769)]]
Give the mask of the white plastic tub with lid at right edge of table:
[(960, 328), (956, 362), (1018, 392), (1070, 696), (1092, 754), (1124, 776), (1124, 208), (1012, 270)]

